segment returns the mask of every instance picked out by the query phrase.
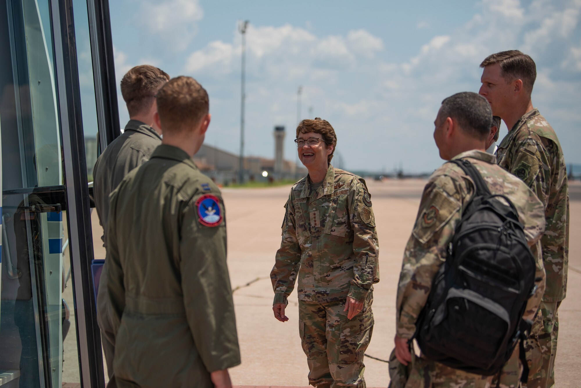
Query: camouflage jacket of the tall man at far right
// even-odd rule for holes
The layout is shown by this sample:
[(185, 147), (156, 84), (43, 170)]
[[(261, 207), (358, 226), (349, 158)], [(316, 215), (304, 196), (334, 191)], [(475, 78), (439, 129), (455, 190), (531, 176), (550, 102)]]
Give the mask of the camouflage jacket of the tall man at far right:
[(521, 178), (543, 202), (541, 238), (547, 272), (544, 301), (565, 299), (569, 264), (569, 186), (565, 158), (555, 131), (538, 109), (526, 113), (498, 146), (498, 165)]

